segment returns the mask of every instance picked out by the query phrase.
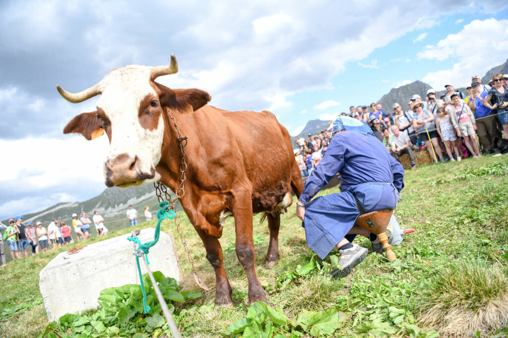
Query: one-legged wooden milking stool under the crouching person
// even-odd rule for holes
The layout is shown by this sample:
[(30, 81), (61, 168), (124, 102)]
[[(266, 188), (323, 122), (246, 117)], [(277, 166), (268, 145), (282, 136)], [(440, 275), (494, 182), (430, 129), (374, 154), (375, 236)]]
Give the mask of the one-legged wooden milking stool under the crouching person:
[(390, 222), (392, 214), (393, 209), (384, 209), (360, 215), (356, 219), (356, 224), (377, 235), (379, 242), (383, 244), (383, 249), (386, 251), (386, 257), (390, 261), (394, 261), (397, 258), (392, 250), (392, 246), (388, 244), (388, 236), (386, 235), (386, 227)]

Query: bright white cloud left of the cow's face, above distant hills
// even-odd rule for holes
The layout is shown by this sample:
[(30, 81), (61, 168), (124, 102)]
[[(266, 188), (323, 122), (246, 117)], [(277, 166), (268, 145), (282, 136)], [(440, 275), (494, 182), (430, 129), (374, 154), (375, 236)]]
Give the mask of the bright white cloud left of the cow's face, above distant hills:
[(105, 136), (91, 141), (82, 136), (0, 139), (0, 148), (6, 159), (15, 159), (2, 167), (0, 219), (85, 200), (106, 188), (103, 161), (109, 142)]

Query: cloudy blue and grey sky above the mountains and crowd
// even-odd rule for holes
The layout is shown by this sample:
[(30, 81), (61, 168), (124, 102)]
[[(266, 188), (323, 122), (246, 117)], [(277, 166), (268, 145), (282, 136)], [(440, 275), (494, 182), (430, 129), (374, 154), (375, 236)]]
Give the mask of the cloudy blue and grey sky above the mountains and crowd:
[(508, 58), (508, 1), (0, 2), (0, 219), (104, 189), (108, 140), (63, 135), (111, 69), (168, 64), (170, 88), (268, 109), (292, 135), (421, 80), (467, 85)]

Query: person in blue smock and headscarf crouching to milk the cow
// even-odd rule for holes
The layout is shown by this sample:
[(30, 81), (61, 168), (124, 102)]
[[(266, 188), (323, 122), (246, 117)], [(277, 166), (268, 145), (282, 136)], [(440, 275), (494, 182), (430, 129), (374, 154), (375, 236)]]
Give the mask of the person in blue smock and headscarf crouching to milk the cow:
[[(297, 216), (303, 221), (307, 245), (322, 259), (337, 247), (341, 253), (334, 277), (345, 277), (367, 257), (368, 250), (351, 243), (356, 234), (376, 236), (359, 226), (364, 212), (395, 209), (404, 187), (404, 168), (360, 121), (340, 116), (333, 125), (333, 139), (326, 156), (310, 174), (298, 199)], [(340, 173), (341, 193), (315, 196), (335, 174)], [(377, 248), (378, 249), (378, 248)]]

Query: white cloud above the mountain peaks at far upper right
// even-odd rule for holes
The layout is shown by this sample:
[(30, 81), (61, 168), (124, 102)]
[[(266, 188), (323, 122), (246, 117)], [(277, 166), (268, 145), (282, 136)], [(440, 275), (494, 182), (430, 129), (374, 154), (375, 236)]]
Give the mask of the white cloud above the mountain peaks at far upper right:
[[(466, 44), (465, 41), (474, 41), (474, 44)], [(492, 67), (504, 63), (506, 55), (508, 55), (508, 20), (493, 18), (474, 20), (458, 33), (450, 34), (436, 45), (428, 45), (418, 53), (419, 58), (456, 60), (451, 68), (429, 72), (422, 79), (436, 89), (443, 88), (448, 82), (456, 88), (465, 87), (470, 83), (471, 75), (485, 73)]]

